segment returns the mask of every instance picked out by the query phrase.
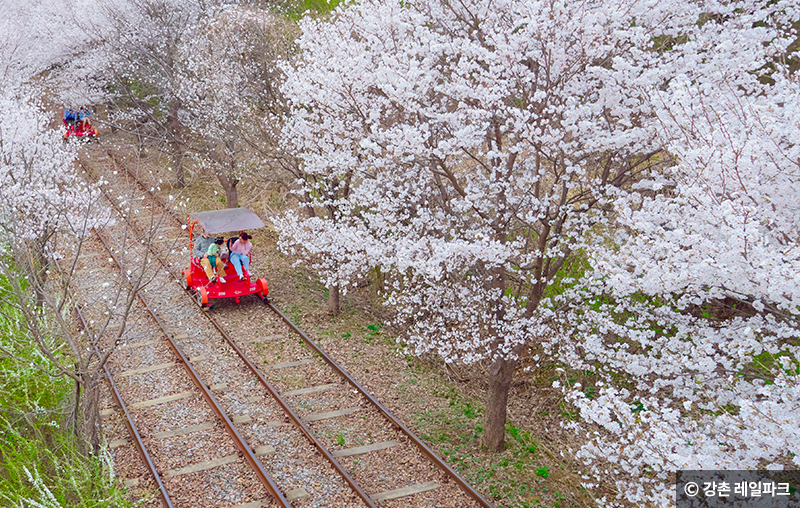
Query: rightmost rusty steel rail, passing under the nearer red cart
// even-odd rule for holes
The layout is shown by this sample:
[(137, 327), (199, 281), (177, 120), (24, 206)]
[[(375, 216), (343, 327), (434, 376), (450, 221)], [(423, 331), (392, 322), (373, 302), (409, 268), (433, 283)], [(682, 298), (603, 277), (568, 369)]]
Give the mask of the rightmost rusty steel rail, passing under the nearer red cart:
[[(112, 154), (109, 152), (109, 155), (112, 155)], [(113, 155), (112, 155), (112, 158), (113, 158)], [(115, 160), (115, 162), (116, 162), (116, 158), (114, 158), (114, 160)], [(124, 165), (122, 165), (122, 164), (120, 164), (120, 166), (123, 166), (123, 167), (124, 167)], [(161, 206), (161, 207), (162, 207), (162, 208), (163, 208), (165, 211), (169, 212), (169, 214), (170, 214), (170, 215), (172, 215), (172, 217), (173, 217), (173, 218), (174, 218), (174, 219), (175, 219), (175, 220), (176, 220), (176, 221), (177, 221), (179, 224), (183, 225), (183, 221), (182, 221), (180, 218), (178, 218), (178, 217), (177, 217), (177, 216), (174, 214), (174, 212), (172, 212), (172, 210), (170, 210), (170, 209), (169, 209), (169, 207), (165, 206), (165, 205), (164, 205), (164, 203), (162, 203), (161, 201), (159, 201), (159, 200), (158, 200), (158, 199), (155, 197), (155, 195), (154, 195), (152, 192), (150, 192), (150, 191), (147, 189), (147, 187), (146, 187), (146, 186), (142, 185), (142, 183), (140, 182), (139, 178), (138, 178), (136, 175), (134, 175), (134, 174), (133, 174), (133, 173), (130, 171), (130, 169), (128, 169), (127, 167), (125, 167), (125, 171), (126, 171), (126, 172), (127, 172), (127, 173), (128, 173), (128, 174), (129, 174), (129, 175), (130, 175), (130, 176), (131, 176), (131, 177), (132, 177), (132, 178), (133, 178), (133, 179), (134, 179), (134, 180), (135, 180), (135, 181), (136, 181), (136, 182), (139, 184), (139, 186), (140, 186), (142, 189), (144, 189), (144, 190), (145, 190), (145, 192), (147, 192), (148, 194), (150, 194), (150, 195), (151, 195), (151, 197), (153, 198), (153, 201), (155, 201), (156, 203), (158, 203), (158, 204), (159, 204), (159, 206)], [(156, 256), (158, 257), (158, 254), (156, 254)], [(162, 264), (163, 264), (165, 267), (167, 266), (167, 265), (166, 265), (166, 263), (164, 263), (163, 261), (162, 261)], [(178, 280), (178, 282), (180, 282), (180, 278), (179, 278), (179, 277), (177, 277), (177, 276), (175, 276), (175, 274), (174, 274), (174, 272), (172, 272), (172, 270), (170, 270), (168, 267), (167, 267), (167, 270), (168, 270), (170, 273), (172, 273), (173, 277), (175, 277), (175, 278)], [(195, 302), (195, 303), (196, 303), (196, 302)], [(399, 421), (397, 418), (395, 418), (395, 417), (394, 417), (394, 415), (392, 415), (392, 414), (389, 412), (389, 410), (387, 410), (385, 407), (383, 407), (383, 405), (382, 405), (380, 402), (378, 402), (378, 401), (377, 401), (377, 400), (376, 400), (376, 399), (375, 399), (375, 398), (374, 398), (372, 395), (370, 395), (370, 393), (369, 393), (369, 392), (367, 392), (367, 390), (366, 390), (366, 389), (364, 389), (364, 388), (363, 388), (363, 387), (362, 387), (360, 384), (358, 384), (358, 382), (357, 382), (355, 379), (353, 379), (353, 378), (352, 378), (352, 376), (350, 376), (350, 374), (348, 374), (348, 373), (347, 373), (347, 372), (346, 372), (344, 369), (342, 369), (342, 368), (341, 368), (341, 367), (340, 367), (340, 366), (339, 366), (339, 365), (338, 365), (338, 364), (337, 364), (337, 363), (336, 363), (336, 362), (335, 362), (335, 361), (334, 361), (334, 360), (333, 360), (333, 359), (332, 359), (330, 356), (328, 356), (328, 355), (327, 355), (327, 354), (326, 354), (324, 351), (322, 351), (322, 350), (321, 350), (321, 349), (320, 349), (320, 348), (319, 348), (319, 347), (318, 347), (318, 346), (317, 346), (317, 345), (314, 343), (314, 341), (312, 341), (312, 340), (311, 340), (311, 339), (310, 339), (310, 338), (309, 338), (309, 337), (308, 337), (308, 336), (307, 336), (307, 335), (306, 335), (306, 334), (305, 334), (305, 333), (304, 333), (304, 332), (303, 332), (303, 331), (302, 331), (300, 328), (298, 328), (298, 327), (297, 327), (297, 325), (295, 325), (295, 324), (294, 324), (294, 323), (293, 323), (293, 322), (292, 322), (292, 321), (291, 321), (291, 320), (290, 320), (290, 319), (289, 319), (289, 318), (288, 318), (288, 317), (287, 317), (287, 316), (286, 316), (286, 315), (285, 315), (283, 312), (281, 312), (281, 311), (280, 311), (280, 310), (279, 310), (277, 307), (275, 307), (275, 305), (274, 305), (274, 304), (273, 304), (271, 301), (267, 301), (267, 302), (266, 302), (266, 304), (267, 304), (267, 305), (270, 307), (270, 309), (271, 309), (273, 312), (275, 312), (276, 314), (278, 314), (278, 316), (280, 316), (280, 317), (281, 317), (281, 319), (282, 319), (282, 320), (283, 320), (283, 321), (284, 321), (284, 322), (285, 322), (287, 325), (289, 325), (289, 327), (290, 327), (290, 328), (292, 328), (292, 329), (293, 329), (295, 332), (297, 332), (297, 334), (298, 334), (298, 335), (300, 335), (300, 336), (303, 338), (303, 340), (304, 340), (304, 341), (305, 341), (307, 344), (309, 344), (309, 346), (310, 346), (310, 347), (311, 347), (311, 348), (312, 348), (312, 349), (313, 349), (313, 350), (314, 350), (316, 353), (318, 353), (318, 354), (319, 354), (319, 355), (320, 355), (320, 356), (321, 356), (321, 357), (322, 357), (322, 358), (325, 360), (325, 362), (326, 362), (326, 363), (328, 363), (328, 364), (331, 366), (331, 368), (333, 368), (333, 369), (334, 369), (334, 370), (335, 370), (335, 371), (336, 371), (336, 372), (337, 372), (337, 373), (338, 373), (340, 376), (342, 376), (342, 377), (343, 377), (345, 380), (347, 380), (347, 381), (348, 381), (348, 382), (349, 382), (351, 385), (353, 385), (353, 387), (354, 387), (356, 390), (358, 390), (358, 391), (359, 391), (359, 393), (361, 393), (361, 394), (362, 394), (364, 397), (366, 397), (366, 398), (367, 398), (367, 400), (369, 400), (369, 401), (370, 401), (370, 403), (372, 403), (372, 405), (373, 405), (373, 406), (374, 406), (376, 409), (378, 409), (378, 411), (379, 411), (380, 413), (382, 413), (382, 414), (383, 414), (383, 415), (384, 415), (384, 416), (385, 416), (385, 417), (386, 417), (386, 418), (387, 418), (387, 419), (388, 419), (390, 422), (392, 422), (392, 423), (393, 423), (393, 424), (394, 424), (394, 425), (395, 425), (395, 426), (396, 426), (396, 427), (397, 427), (397, 428), (398, 428), (398, 429), (399, 429), (399, 430), (400, 430), (400, 431), (401, 431), (403, 434), (405, 434), (405, 435), (406, 435), (406, 437), (408, 437), (408, 439), (409, 439), (411, 442), (413, 442), (413, 443), (414, 443), (414, 444), (415, 444), (415, 445), (416, 445), (416, 446), (417, 446), (417, 447), (418, 447), (418, 448), (419, 448), (419, 449), (420, 449), (420, 450), (421, 450), (421, 451), (422, 451), (422, 452), (425, 454), (425, 456), (427, 456), (427, 457), (428, 457), (428, 458), (431, 460), (431, 462), (433, 462), (433, 464), (434, 464), (434, 465), (436, 465), (436, 466), (437, 466), (437, 467), (438, 467), (440, 470), (442, 470), (442, 471), (443, 471), (443, 472), (444, 472), (444, 473), (445, 473), (447, 476), (449, 476), (449, 477), (450, 477), (450, 478), (451, 478), (453, 481), (455, 481), (455, 483), (456, 483), (456, 484), (457, 484), (457, 485), (458, 485), (458, 486), (461, 488), (461, 490), (463, 490), (463, 491), (464, 491), (464, 492), (465, 492), (465, 493), (466, 493), (468, 496), (470, 496), (470, 497), (471, 497), (471, 498), (473, 498), (473, 499), (474, 499), (476, 502), (478, 502), (478, 504), (479, 504), (481, 507), (483, 507), (483, 508), (494, 508), (494, 506), (493, 506), (491, 503), (489, 503), (489, 502), (488, 502), (486, 499), (484, 499), (484, 497), (483, 497), (483, 496), (481, 496), (481, 495), (480, 495), (480, 494), (479, 494), (479, 493), (478, 493), (478, 492), (477, 492), (477, 491), (476, 491), (474, 488), (472, 488), (472, 486), (471, 486), (471, 485), (470, 485), (470, 484), (469, 484), (469, 483), (468, 483), (466, 480), (464, 480), (464, 479), (461, 477), (461, 475), (459, 475), (459, 474), (458, 474), (456, 471), (454, 471), (454, 470), (453, 470), (453, 469), (452, 469), (452, 468), (451, 468), (451, 467), (450, 467), (450, 466), (449, 466), (449, 465), (448, 465), (446, 462), (444, 462), (444, 461), (443, 461), (443, 460), (442, 460), (442, 459), (441, 459), (441, 458), (440, 458), (438, 455), (436, 455), (436, 453), (435, 453), (433, 450), (431, 450), (431, 449), (430, 449), (430, 448), (429, 448), (429, 447), (428, 447), (428, 446), (427, 446), (425, 443), (423, 443), (423, 442), (422, 442), (422, 441), (421, 441), (421, 440), (420, 440), (420, 439), (419, 439), (419, 438), (418, 438), (418, 437), (417, 437), (417, 436), (416, 436), (416, 435), (415, 435), (413, 432), (411, 432), (411, 430), (409, 430), (409, 429), (408, 429), (408, 428), (407, 428), (405, 425), (403, 425), (403, 424), (402, 424), (402, 423), (401, 423), (401, 422), (400, 422), (400, 421)], [(220, 332), (221, 332), (221, 333), (223, 333), (223, 335), (226, 335), (226, 334), (225, 334), (225, 332), (224, 332), (224, 331), (221, 329), (221, 327), (220, 327), (220, 326), (219, 326), (219, 325), (216, 323), (216, 320), (214, 320), (214, 319), (213, 319), (211, 316), (209, 316), (209, 319), (210, 319), (210, 320), (211, 320), (211, 322), (214, 324), (214, 326), (215, 326), (215, 327), (217, 327), (217, 329), (218, 329), (218, 330), (220, 330)], [(249, 360), (248, 360), (248, 361), (249, 361)], [(261, 378), (260, 374), (259, 374), (259, 378)], [(272, 390), (270, 390), (270, 391), (272, 391)], [(276, 399), (276, 400), (277, 400), (277, 399)], [(283, 403), (282, 403), (282, 402), (281, 402), (281, 405), (283, 405)], [(303, 429), (304, 429), (304, 432), (305, 432), (305, 431), (306, 431), (306, 430), (305, 430), (305, 426), (303, 426)], [(335, 460), (335, 459), (334, 459), (334, 460)], [(336, 463), (338, 464), (338, 462), (336, 462)]]

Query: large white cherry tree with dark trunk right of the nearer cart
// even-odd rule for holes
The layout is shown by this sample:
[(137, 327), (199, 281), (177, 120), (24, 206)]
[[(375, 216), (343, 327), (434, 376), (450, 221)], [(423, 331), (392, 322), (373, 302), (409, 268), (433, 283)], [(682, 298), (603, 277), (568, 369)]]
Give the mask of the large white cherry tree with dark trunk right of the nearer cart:
[[(518, 355), (552, 312), (548, 286), (611, 189), (657, 166), (639, 91), (669, 76), (654, 40), (697, 17), (627, 0), (362, 2), (302, 25), (286, 137), (327, 211), (279, 220), (283, 245), (326, 227), (330, 243), (313, 246), (324, 280), (393, 272), (387, 302), (411, 350), (489, 360), (492, 449)], [(370, 239), (360, 263), (356, 233)]]

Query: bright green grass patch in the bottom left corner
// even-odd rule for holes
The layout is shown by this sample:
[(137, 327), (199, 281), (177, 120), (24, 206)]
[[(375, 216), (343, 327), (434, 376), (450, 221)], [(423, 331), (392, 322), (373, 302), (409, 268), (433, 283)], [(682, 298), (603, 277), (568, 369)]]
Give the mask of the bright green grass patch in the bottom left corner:
[[(4, 295), (8, 297), (8, 294)], [(0, 506), (126, 507), (110, 456), (87, 457), (65, 424), (74, 396), (68, 378), (50, 376), (20, 328), (22, 316), (0, 305)]]

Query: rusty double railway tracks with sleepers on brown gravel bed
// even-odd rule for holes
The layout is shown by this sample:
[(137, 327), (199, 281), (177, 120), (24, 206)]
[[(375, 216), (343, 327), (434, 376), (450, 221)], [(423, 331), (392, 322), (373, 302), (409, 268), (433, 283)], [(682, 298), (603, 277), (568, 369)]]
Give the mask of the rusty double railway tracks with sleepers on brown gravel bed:
[[(150, 457), (128, 481), (157, 492), (154, 506), (491, 506), (272, 304), (202, 312), (177, 282), (182, 220), (119, 156), (94, 150), (83, 163), (137, 231), (124, 245), (99, 232), (87, 255), (118, 277), (158, 260), (109, 362), (120, 400), (104, 411), (111, 446)], [(246, 306), (261, 312), (236, 322)]]

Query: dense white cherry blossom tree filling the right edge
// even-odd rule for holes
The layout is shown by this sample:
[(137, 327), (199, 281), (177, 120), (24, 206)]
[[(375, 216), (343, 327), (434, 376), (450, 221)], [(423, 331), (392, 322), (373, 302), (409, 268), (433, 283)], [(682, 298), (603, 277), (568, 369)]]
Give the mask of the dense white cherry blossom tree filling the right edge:
[(567, 393), (602, 429), (579, 456), (620, 473), (609, 506), (674, 506), (676, 470), (800, 466), (800, 80), (781, 58), (796, 34), (767, 28), (797, 15), (741, 10), (648, 95), (675, 164), (616, 199), (576, 286), (591, 305), (553, 344), (599, 379)]

